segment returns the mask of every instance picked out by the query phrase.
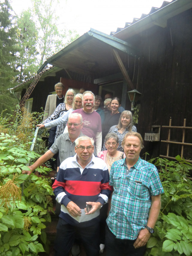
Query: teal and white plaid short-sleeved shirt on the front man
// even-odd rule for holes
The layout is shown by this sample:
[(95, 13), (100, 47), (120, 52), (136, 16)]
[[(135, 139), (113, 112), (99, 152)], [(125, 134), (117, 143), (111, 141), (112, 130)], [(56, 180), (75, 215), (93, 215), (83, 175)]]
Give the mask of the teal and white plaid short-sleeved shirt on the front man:
[(136, 239), (149, 218), (151, 196), (164, 193), (155, 165), (139, 157), (128, 170), (126, 159), (113, 163), (110, 171), (113, 186), (107, 225), (120, 239)]

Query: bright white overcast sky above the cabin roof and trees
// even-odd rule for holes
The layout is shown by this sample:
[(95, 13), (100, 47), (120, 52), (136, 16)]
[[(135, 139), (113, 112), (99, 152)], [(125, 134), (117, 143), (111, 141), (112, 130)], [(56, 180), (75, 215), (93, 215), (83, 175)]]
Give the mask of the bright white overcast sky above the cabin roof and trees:
[[(171, 0), (167, 0), (171, 2)], [(148, 14), (153, 7), (159, 8), (163, 0), (60, 0), (57, 10), (59, 22), (67, 29), (83, 35), (90, 28), (106, 34), (124, 28), (126, 22)], [(30, 0), (12, 0), (11, 6), (17, 15), (31, 6)]]

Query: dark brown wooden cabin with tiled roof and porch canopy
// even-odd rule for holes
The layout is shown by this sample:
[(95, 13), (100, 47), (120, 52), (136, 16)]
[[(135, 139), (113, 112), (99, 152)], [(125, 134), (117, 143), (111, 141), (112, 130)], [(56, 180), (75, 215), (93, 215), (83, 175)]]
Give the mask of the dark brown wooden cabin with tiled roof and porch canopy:
[[(159, 134), (153, 141), (146, 137), (142, 153), (170, 158), (182, 154), (192, 159), (191, 42), (191, 0), (164, 1), (160, 8), (153, 7), (149, 14), (126, 23), (111, 35), (91, 29), (47, 59), (38, 70), (41, 72), (48, 64), (53, 66), (44, 72), (30, 95), (31, 110), (44, 108), (47, 96), (60, 81), (66, 90), (84, 87), (102, 97), (111, 92), (122, 99), (125, 109), (131, 110), (133, 105), (139, 109), (136, 126), (143, 139), (145, 134)], [(20, 91), (22, 98), (31, 81), (11, 91)], [(127, 94), (133, 89), (142, 94), (134, 104)], [(170, 126), (170, 118), (174, 128), (163, 127)]]

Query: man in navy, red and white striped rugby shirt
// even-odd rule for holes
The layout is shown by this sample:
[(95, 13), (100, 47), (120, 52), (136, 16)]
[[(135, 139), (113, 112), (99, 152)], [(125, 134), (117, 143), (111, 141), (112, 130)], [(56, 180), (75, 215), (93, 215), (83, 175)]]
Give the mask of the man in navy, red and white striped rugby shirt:
[[(64, 160), (52, 186), (61, 213), (55, 238), (56, 256), (68, 256), (75, 233), (87, 256), (99, 254), (99, 209), (110, 196), (109, 172), (105, 162), (93, 155), (94, 141), (75, 140), (74, 157)], [(87, 205), (87, 207), (86, 207)]]

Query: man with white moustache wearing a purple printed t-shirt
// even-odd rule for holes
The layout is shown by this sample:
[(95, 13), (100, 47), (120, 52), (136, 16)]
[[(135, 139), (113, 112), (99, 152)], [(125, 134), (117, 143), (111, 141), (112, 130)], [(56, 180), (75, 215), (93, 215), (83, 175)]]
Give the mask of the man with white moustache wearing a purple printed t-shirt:
[(80, 113), (83, 118), (82, 133), (95, 141), (97, 154), (101, 152), (102, 147), (102, 132), (101, 132), (101, 117), (93, 110), (95, 96), (91, 91), (86, 91), (82, 96), (83, 108), (76, 109), (73, 113)]

